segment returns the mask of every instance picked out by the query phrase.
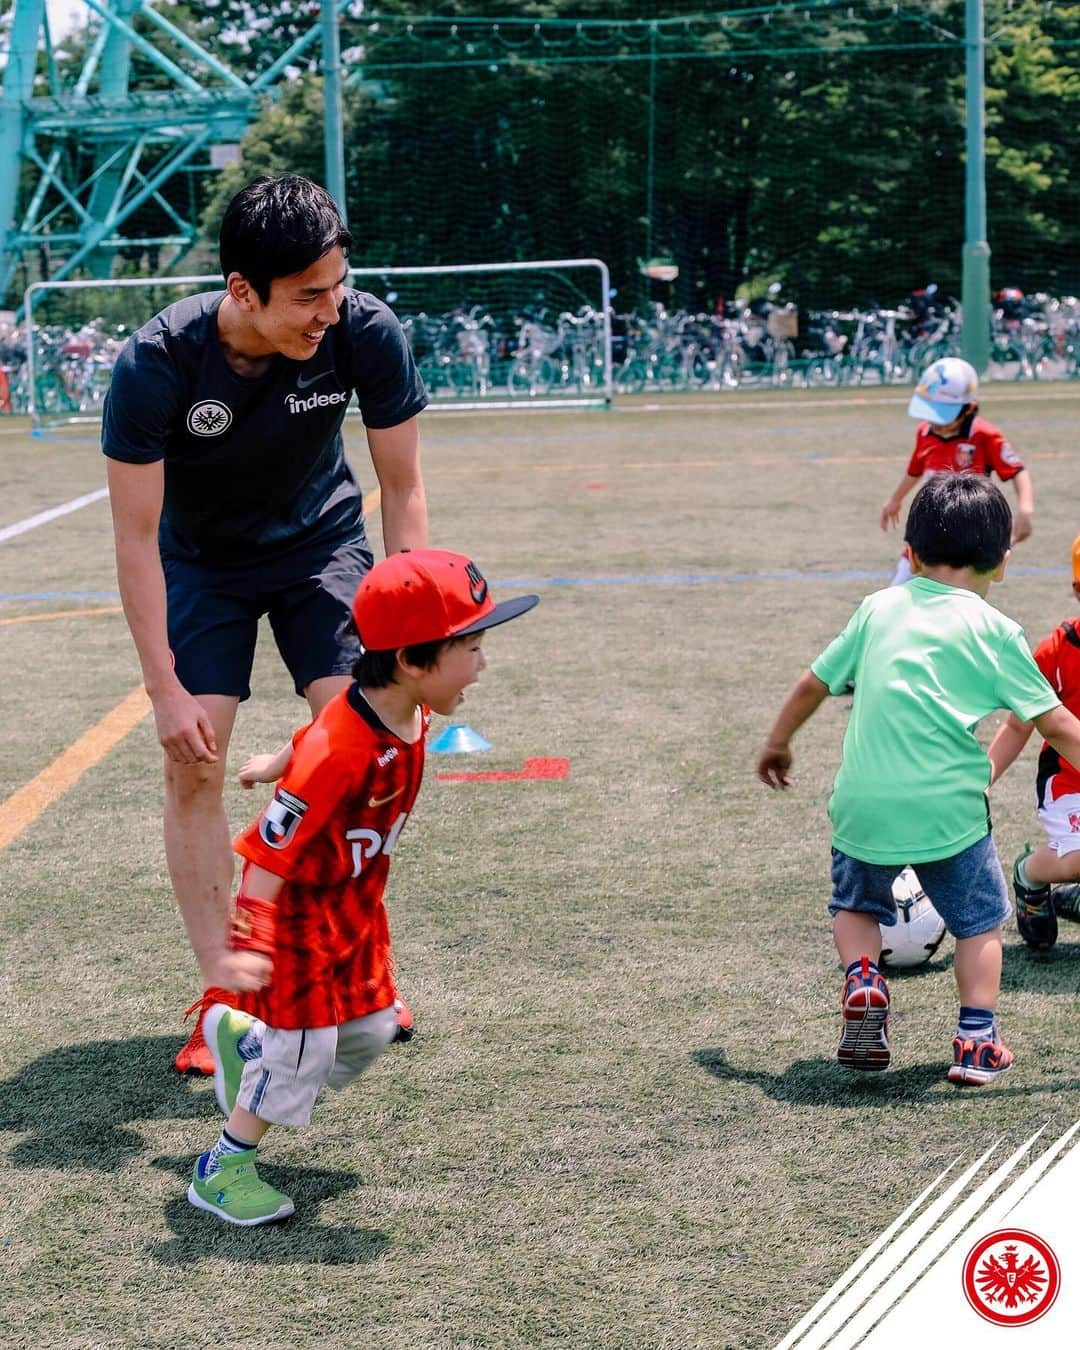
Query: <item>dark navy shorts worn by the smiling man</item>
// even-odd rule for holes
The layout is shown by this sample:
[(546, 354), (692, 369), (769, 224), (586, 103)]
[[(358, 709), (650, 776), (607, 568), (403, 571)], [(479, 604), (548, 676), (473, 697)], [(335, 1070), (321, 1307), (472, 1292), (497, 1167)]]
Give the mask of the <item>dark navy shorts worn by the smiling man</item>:
[(163, 558), (180, 683), (189, 694), (250, 698), (263, 614), (297, 694), (324, 675), (348, 675), (360, 644), (346, 625), (371, 562), (363, 539), (309, 544), (243, 567)]

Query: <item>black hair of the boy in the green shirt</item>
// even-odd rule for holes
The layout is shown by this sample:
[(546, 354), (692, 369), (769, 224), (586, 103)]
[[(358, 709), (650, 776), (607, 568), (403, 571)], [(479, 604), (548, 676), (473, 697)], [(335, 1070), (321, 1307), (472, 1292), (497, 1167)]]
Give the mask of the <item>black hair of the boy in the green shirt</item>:
[(905, 540), (930, 567), (992, 572), (1013, 537), (1013, 512), (980, 474), (932, 474), (915, 493)]

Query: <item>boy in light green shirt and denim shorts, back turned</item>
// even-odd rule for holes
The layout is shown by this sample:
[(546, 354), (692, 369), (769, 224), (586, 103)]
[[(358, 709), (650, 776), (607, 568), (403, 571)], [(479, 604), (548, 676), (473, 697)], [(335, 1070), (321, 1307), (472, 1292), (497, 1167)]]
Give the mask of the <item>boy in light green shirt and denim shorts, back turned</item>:
[(1013, 1062), (995, 1022), (1011, 906), (990, 833), (990, 760), (975, 728), (1007, 707), (1080, 763), (1080, 721), (1041, 675), (1019, 625), (986, 601), (1004, 575), (1011, 529), (1008, 504), (988, 479), (934, 474), (907, 517), (911, 582), (867, 595), (795, 683), (757, 761), (763, 783), (788, 787), (791, 737), (829, 694), (855, 684), (829, 799), (844, 1068), (888, 1066), (879, 923), (896, 922), (892, 880), (907, 864), (956, 938), (949, 1080), (991, 1083)]

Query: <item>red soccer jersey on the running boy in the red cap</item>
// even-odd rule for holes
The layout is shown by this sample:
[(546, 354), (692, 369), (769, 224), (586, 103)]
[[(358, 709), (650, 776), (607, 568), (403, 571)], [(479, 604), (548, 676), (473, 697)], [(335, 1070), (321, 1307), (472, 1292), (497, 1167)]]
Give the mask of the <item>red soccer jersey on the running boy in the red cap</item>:
[(424, 733), (390, 732), (358, 686), (293, 737), (293, 757), (235, 850), (285, 879), (274, 975), (236, 1006), (284, 1030), (340, 1026), (394, 1000), (382, 892), (424, 774)]

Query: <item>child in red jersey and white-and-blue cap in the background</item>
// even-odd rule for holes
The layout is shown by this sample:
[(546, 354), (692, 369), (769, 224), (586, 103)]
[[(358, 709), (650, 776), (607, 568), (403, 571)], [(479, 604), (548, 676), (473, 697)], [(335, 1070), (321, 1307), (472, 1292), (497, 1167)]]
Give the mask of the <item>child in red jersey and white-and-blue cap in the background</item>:
[[(911, 402), (910, 417), (919, 418), (915, 450), (907, 463), (907, 473), (882, 508), (882, 529), (898, 525), (900, 506), (913, 487), (918, 487), (926, 474), (996, 474), (1003, 483), (1011, 482), (1017, 490), (1017, 509), (1013, 513), (1013, 543), (1031, 533), (1034, 493), (1031, 475), (1023, 466), (1004, 435), (984, 417), (979, 417), (979, 377), (967, 360), (944, 356), (927, 366), (919, 379)], [(911, 576), (907, 552), (902, 555), (892, 576), (899, 586)]]

